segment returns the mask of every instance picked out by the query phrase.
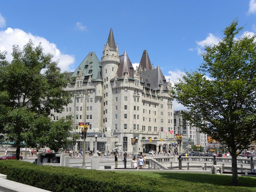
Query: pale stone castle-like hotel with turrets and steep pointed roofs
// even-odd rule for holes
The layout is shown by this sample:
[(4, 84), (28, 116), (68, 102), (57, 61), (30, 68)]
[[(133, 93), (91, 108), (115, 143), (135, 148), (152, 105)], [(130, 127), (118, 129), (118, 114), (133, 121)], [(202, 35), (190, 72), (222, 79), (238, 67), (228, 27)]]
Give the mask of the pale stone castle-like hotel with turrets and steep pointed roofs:
[[(126, 51), (119, 55), (111, 28), (101, 61), (90, 52), (70, 76), (75, 80), (66, 90), (74, 93), (73, 102), (53, 118), (72, 114), (74, 132), (78, 132), (79, 122), (90, 122), (86, 150), (94, 150), (94, 134), (103, 135), (97, 140), (100, 151), (118, 147), (137, 153), (143, 152), (144, 146), (146, 151), (171, 148), (172, 87), (160, 67), (151, 65), (146, 50), (139, 67), (134, 69)], [(137, 140), (132, 145), (133, 138)], [(82, 139), (78, 141), (80, 148)]]

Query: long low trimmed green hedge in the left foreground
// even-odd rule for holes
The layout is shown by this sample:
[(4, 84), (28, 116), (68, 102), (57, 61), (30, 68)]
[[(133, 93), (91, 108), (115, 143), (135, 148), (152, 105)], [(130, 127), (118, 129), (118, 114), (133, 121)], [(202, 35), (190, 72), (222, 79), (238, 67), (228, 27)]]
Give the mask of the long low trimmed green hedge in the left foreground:
[(17, 160), (0, 161), (0, 173), (8, 180), (20, 182), (53, 192), (157, 192), (166, 191), (162, 179), (147, 178), (113, 171), (80, 168), (37, 166)]

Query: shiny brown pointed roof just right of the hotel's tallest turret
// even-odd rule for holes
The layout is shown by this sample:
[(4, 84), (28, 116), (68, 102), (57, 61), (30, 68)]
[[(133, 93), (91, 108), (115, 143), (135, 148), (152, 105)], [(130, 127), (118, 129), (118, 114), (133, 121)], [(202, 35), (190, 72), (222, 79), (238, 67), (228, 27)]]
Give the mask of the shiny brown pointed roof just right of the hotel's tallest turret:
[(124, 53), (119, 57), (120, 57), (120, 64), (118, 66), (117, 76), (122, 77), (124, 76), (124, 73), (127, 73), (128, 77), (133, 77), (134, 68), (132, 66), (132, 62), (130, 61), (126, 51), (124, 51)]

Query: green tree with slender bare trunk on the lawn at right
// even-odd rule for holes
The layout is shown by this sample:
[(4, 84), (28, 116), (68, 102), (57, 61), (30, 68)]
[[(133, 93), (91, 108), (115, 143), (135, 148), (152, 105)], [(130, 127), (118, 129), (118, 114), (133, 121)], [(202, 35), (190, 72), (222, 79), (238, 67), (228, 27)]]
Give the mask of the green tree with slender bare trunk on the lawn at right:
[[(217, 45), (206, 46), (200, 68), (186, 72), (175, 84), (177, 101), (189, 111), (185, 118), (230, 152), (234, 185), (236, 158), (256, 140), (255, 36), (236, 37), (242, 30), (237, 25), (234, 20)], [(241, 151), (236, 154), (237, 150)]]

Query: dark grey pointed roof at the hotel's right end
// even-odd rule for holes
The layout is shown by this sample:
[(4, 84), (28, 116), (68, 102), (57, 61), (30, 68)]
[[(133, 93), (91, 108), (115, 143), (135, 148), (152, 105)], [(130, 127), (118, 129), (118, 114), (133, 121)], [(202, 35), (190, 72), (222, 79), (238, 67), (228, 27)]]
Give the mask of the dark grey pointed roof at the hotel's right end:
[[(146, 82), (146, 84), (150, 85), (152, 90), (160, 90), (159, 85), (163, 85), (164, 90), (167, 90), (168, 83), (166, 82), (159, 66), (155, 69), (143, 71), (142, 74), (140, 74), (140, 77)], [(149, 88), (146, 84), (145, 87)]]

